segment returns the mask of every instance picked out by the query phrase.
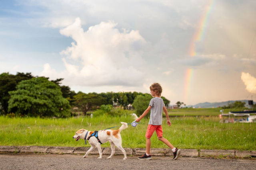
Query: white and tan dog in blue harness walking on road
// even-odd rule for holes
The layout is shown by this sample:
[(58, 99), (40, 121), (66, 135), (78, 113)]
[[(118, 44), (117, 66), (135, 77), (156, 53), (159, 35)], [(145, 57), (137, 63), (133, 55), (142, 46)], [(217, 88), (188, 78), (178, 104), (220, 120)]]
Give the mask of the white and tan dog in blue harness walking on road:
[[(101, 143), (106, 143), (108, 141), (110, 142), (112, 152), (111, 152), (111, 155), (108, 157), (108, 159), (112, 158), (112, 156), (114, 155), (115, 146), (124, 153), (124, 160), (127, 159), (126, 152), (122, 147), (122, 138), (121, 138), (120, 132), (122, 130), (126, 129), (128, 127), (128, 125), (127, 125), (127, 123), (124, 123), (124, 122), (121, 122), (121, 123), (122, 123), (122, 126), (118, 130), (108, 129), (108, 130), (98, 131), (98, 139), (100, 140)], [(87, 135), (86, 135), (86, 133), (87, 133)], [(94, 133), (94, 131), (80, 129), (76, 132), (76, 135), (73, 136), (73, 139), (76, 139), (76, 141), (78, 141), (81, 138), (88, 139), (88, 137), (90, 137), (93, 133)], [(100, 143), (99, 143), (98, 139), (94, 136), (92, 136), (92, 137), (90, 137), (90, 139), (88, 139), (88, 142), (90, 143), (91, 148), (86, 152), (86, 154), (84, 155), (84, 158), (86, 158), (88, 156), (89, 152), (92, 151), (93, 149), (95, 149), (96, 147), (98, 148), (98, 151), (100, 153), (100, 157), (98, 157), (98, 159), (102, 158), (101, 147), (100, 147)]]

